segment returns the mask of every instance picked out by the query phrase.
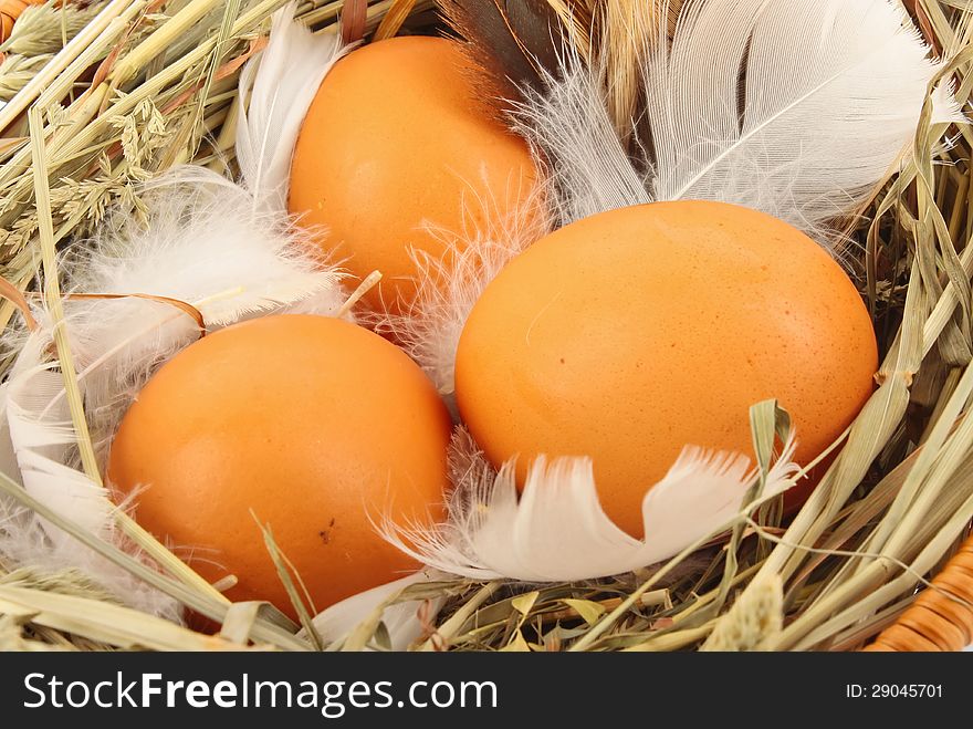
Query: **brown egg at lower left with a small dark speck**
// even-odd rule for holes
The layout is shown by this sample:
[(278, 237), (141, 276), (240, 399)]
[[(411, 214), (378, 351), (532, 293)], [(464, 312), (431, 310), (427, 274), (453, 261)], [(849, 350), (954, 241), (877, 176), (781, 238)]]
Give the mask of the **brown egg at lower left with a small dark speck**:
[[(395, 346), (336, 319), (285, 315), (217, 332), (166, 364), (128, 410), (108, 479), (136, 520), (234, 601), (294, 611), (261, 523), (317, 610), (417, 565), (369, 518), (442, 517), (450, 418)], [(143, 490), (144, 488), (144, 490)]]

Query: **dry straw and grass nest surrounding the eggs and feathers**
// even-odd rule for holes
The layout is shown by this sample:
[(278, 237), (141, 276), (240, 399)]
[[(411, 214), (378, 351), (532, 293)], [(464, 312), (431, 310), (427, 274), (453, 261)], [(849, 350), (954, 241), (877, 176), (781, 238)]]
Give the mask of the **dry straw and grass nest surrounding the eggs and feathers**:
[[(238, 74), (282, 4), (93, 0), (27, 11), (0, 45), (0, 275), (56, 306), (60, 246), (85, 236), (113, 205), (137, 206), (138, 184), (177, 164), (232, 166)], [(323, 29), (343, 4), (308, 1), (297, 15)], [(945, 73), (966, 104), (973, 23), (961, 4), (906, 2), (951, 59)], [(359, 20), (377, 38), (437, 23), (427, 0), (372, 2)], [(764, 510), (719, 543), (588, 584), (415, 585), (399, 596), (428, 598), (419, 611), (425, 635), (414, 647), (847, 650), (913, 606), (973, 520), (973, 132), (953, 129), (950, 148), (938, 143), (943, 132), (927, 113), (911, 162), (876, 191), (854, 232), (860, 244), (850, 256), (883, 357), (879, 387), (791, 523)], [(11, 303), (0, 305), (0, 327), (12, 326), (14, 313)], [(2, 353), (0, 375), (14, 355)], [(168, 567), (165, 575), (45, 513), (10, 479), (0, 477), (0, 491), (222, 623), (218, 635), (197, 633), (119, 605), (84, 574), (0, 562), (0, 649), (324, 647), (313, 626), (299, 633), (272, 614), (228, 608), (124, 513), (123, 528)], [(969, 610), (960, 592), (949, 600)], [(383, 649), (388, 635), (375, 615), (329, 647)]]

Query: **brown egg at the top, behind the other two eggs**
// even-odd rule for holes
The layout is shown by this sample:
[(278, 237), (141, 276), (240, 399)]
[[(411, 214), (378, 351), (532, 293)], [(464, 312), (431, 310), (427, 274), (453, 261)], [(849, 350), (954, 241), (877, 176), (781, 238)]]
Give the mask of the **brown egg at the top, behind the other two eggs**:
[(441, 257), (449, 233), (485, 230), (533, 199), (530, 150), (475, 82), (456, 42), (395, 38), (342, 59), (304, 119), (291, 212), (323, 226), (322, 246), (356, 277), (381, 271), (373, 306), (414, 300), (411, 249)]

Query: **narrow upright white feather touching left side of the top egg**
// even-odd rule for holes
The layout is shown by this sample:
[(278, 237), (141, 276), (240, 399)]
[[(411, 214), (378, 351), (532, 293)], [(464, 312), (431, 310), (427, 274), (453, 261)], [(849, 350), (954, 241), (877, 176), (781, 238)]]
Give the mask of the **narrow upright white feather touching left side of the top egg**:
[[(254, 205), (285, 210), (301, 124), (332, 65), (353, 45), (294, 20), (296, 2), (273, 15), (270, 42), (240, 74), (237, 159)], [(249, 108), (248, 108), (249, 107)]]

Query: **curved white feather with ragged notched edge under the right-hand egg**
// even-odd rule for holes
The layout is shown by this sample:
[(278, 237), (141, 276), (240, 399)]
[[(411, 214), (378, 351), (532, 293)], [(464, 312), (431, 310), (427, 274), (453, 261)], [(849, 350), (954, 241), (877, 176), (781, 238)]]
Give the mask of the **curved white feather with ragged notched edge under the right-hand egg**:
[[(764, 497), (794, 483), (793, 437), (768, 473)], [(536, 459), (517, 498), (514, 464), (493, 471), (458, 429), (456, 490), (446, 523), (383, 524), (385, 538), (423, 564), (474, 580), (562, 582), (631, 572), (678, 554), (726, 528), (757, 475), (743, 456), (687, 448), (642, 500), (645, 539), (621, 531), (598, 501), (587, 458)], [(687, 514), (692, 514), (687, 517)]]

